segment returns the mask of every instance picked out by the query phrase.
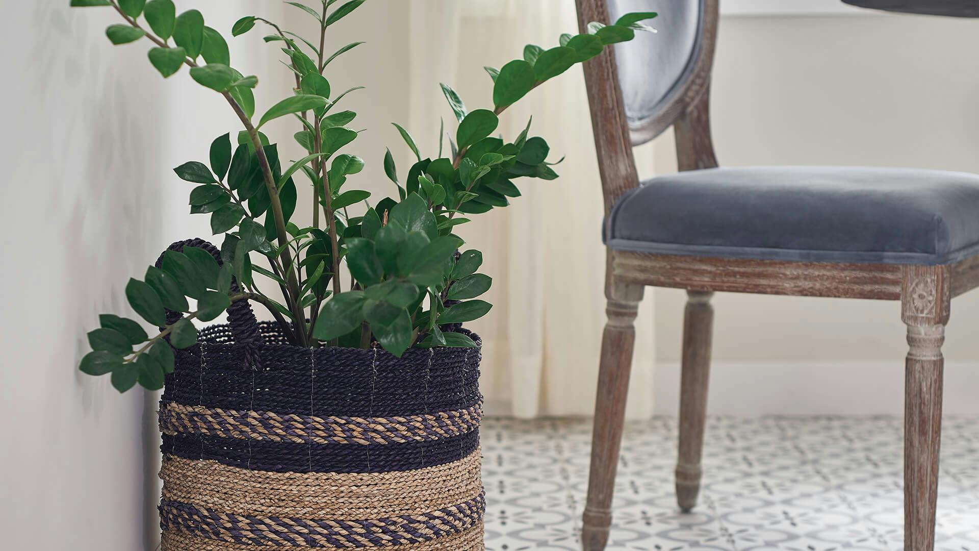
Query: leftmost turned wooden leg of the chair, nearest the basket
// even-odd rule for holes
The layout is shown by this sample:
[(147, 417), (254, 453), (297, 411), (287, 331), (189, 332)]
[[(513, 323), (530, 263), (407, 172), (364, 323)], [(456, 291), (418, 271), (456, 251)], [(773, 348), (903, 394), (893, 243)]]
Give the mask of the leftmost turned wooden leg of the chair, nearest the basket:
[(632, 323), (643, 290), (642, 285), (612, 281), (605, 293), (608, 297), (608, 322), (602, 333), (602, 355), (598, 367), (591, 469), (582, 527), (584, 551), (605, 549), (609, 526), (612, 525), (612, 492), (619, 467), (632, 346), (635, 343)]

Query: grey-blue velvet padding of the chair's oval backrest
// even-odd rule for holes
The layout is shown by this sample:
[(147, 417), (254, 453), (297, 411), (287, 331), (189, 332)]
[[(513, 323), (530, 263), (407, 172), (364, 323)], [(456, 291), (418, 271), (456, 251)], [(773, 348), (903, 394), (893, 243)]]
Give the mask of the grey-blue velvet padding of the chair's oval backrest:
[(658, 32), (636, 32), (616, 46), (629, 125), (654, 117), (689, 77), (699, 51), (703, 0), (608, 0), (611, 21), (629, 12), (657, 12), (643, 22)]

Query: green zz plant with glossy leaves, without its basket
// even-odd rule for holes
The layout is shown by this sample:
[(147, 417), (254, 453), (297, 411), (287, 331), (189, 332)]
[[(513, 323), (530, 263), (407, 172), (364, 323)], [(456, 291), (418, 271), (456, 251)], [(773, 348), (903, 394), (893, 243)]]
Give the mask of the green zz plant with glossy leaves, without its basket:
[[(161, 388), (163, 376), (173, 370), (170, 346), (188, 348), (198, 340), (191, 321), (213, 320), (239, 300), (267, 308), (289, 341), (299, 346), (366, 348), (376, 340), (398, 357), (410, 347), (475, 346), (465, 334), (443, 330), (476, 320), (491, 307), (477, 298), (491, 284), (489, 275), (477, 273), (483, 255), (477, 250), (458, 254), (463, 240), (453, 228), (520, 196), (515, 180), (557, 177), (551, 169), (556, 163), (547, 162), (547, 142), (530, 135), (530, 123), (509, 142), (493, 135), (499, 115), (605, 46), (632, 39), (636, 30), (651, 30), (640, 22), (656, 14), (629, 14), (613, 25), (592, 23), (587, 33), (562, 34), (556, 47), (528, 45), (523, 59), (499, 70), (486, 68), (494, 81), (492, 109), (467, 110), (443, 84), (458, 122), (447, 155), (444, 124), (434, 159), (423, 158), (408, 131), (395, 124), (414, 162), (400, 179), (389, 149), (384, 170), (396, 198), (371, 205), (369, 192), (348, 184), (364, 161), (341, 152), (357, 137), (348, 126), (356, 113), (338, 105), (357, 88), (336, 93), (325, 76), (333, 60), (360, 44), (327, 55), (330, 27), (364, 1), (321, 0), (313, 1), (314, 6), (286, 2), (318, 23), (315, 40), (257, 16), (244, 17), (231, 28), (239, 36), (267, 26), (271, 33), (265, 42), (281, 48), (295, 76), (289, 96), (256, 120), (253, 89), (258, 78), (233, 68), (224, 37), (205, 25), (198, 10), (177, 15), (171, 0), (71, 0), (71, 6), (115, 10), (119, 23), (106, 29), (109, 40), (151, 42), (150, 63), (163, 77), (187, 66), (191, 78), (219, 94), (241, 122), (238, 131), (213, 141), (208, 164), (191, 161), (174, 169), (181, 179), (196, 184), (190, 191), (191, 213), (210, 215), (213, 233), (224, 235), (222, 264), (203, 249), (185, 247), (182, 253), (168, 251), (160, 269), (151, 266), (142, 279), (129, 279), (125, 294), (133, 311), (162, 328), (151, 336), (134, 320), (100, 316), (100, 327), (88, 333), (92, 351), (81, 361), (82, 372), (111, 374), (120, 392), (137, 382)], [(294, 138), (307, 155), (298, 161), (282, 163), (276, 144), (261, 131), (281, 117), (294, 118), (300, 128)], [(300, 175), (312, 186), (314, 199), (307, 227), (292, 222)], [(361, 202), (367, 203), (366, 213), (351, 216), (348, 207)], [(253, 263), (252, 255), (263, 258), (269, 269)], [(344, 263), (349, 282), (341, 281)], [(256, 275), (277, 285), (283, 302), (266, 294)], [(240, 291), (232, 291), (232, 280), (240, 282)], [(265, 284), (270, 283), (263, 280)], [(167, 325), (167, 309), (184, 316)]]

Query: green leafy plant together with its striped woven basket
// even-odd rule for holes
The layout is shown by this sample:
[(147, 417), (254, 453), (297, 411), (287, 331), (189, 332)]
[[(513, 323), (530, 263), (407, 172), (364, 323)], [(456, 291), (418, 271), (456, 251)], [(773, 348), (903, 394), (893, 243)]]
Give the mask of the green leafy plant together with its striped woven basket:
[[(458, 122), (447, 150), (423, 159), (398, 125), (415, 160), (400, 179), (389, 150), (396, 195), (366, 204), (370, 193), (348, 184), (364, 161), (341, 152), (357, 137), (347, 126), (356, 114), (339, 108), (352, 90), (337, 93), (325, 76), (356, 43), (324, 49), (328, 27), (363, 2), (288, 2), (318, 22), (312, 40), (256, 16), (233, 26), (234, 36), (267, 26), (264, 40), (295, 75), (288, 97), (256, 118), (257, 77), (233, 69), (227, 42), (199, 11), (177, 15), (171, 0), (71, 0), (115, 10), (119, 23), (106, 30), (114, 44), (152, 42), (149, 61), (164, 77), (188, 66), (241, 122), (213, 141), (209, 163), (174, 170), (196, 184), (191, 212), (210, 216), (220, 247), (174, 243), (130, 279), (129, 305), (159, 330), (102, 315), (80, 365), (110, 375), (120, 392), (164, 388), (163, 549), (483, 548), (480, 339), (461, 325), (489, 312), (477, 297), (491, 279), (478, 273), (479, 251), (459, 252), (453, 228), (519, 196), (514, 180), (557, 177), (530, 124), (509, 142), (493, 136), (498, 116), (649, 29), (640, 22), (656, 14), (593, 23), (487, 68), (492, 109), (467, 110), (443, 84)], [(298, 161), (283, 163), (261, 131), (281, 117), (297, 122), (307, 152)], [(306, 227), (293, 222), (301, 175), (314, 199)], [(366, 210), (354, 216), (359, 203)], [(250, 303), (275, 321), (257, 323)], [(193, 324), (224, 312), (227, 325)]]

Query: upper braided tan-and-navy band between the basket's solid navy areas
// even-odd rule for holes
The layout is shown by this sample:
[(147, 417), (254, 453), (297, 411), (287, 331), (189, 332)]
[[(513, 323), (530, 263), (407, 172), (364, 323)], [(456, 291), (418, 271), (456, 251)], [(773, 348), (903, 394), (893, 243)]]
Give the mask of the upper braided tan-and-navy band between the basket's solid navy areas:
[(388, 444), (465, 434), (477, 428), (482, 419), (480, 404), (431, 415), (319, 418), (168, 402), (160, 410), (160, 429), (170, 435), (203, 433), (299, 444)]

